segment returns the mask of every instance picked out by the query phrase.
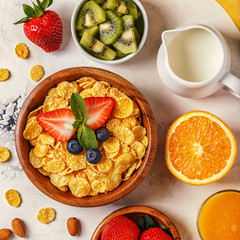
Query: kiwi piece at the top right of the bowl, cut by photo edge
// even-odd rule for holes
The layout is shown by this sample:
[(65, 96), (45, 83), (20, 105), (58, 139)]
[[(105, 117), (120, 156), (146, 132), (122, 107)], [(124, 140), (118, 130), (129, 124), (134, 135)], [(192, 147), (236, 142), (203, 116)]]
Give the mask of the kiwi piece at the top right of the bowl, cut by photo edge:
[(137, 6), (132, 0), (107, 0), (107, 9), (120, 14), (132, 15), (134, 19), (138, 17)]

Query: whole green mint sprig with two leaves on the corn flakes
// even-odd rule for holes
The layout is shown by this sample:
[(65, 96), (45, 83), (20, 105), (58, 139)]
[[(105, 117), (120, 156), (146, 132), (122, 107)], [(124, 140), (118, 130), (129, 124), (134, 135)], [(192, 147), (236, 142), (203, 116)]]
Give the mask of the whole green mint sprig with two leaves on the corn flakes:
[(77, 93), (72, 93), (70, 98), (70, 107), (74, 115), (74, 128), (78, 128), (78, 141), (87, 151), (90, 148), (97, 148), (97, 138), (94, 131), (87, 125), (86, 105), (84, 99)]

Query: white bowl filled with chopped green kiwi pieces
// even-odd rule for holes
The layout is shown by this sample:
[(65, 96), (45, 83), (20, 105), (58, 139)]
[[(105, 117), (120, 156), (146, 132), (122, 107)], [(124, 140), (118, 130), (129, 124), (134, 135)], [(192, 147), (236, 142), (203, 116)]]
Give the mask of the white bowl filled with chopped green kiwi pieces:
[(100, 63), (122, 63), (143, 47), (148, 18), (139, 0), (81, 0), (71, 32), (78, 49)]

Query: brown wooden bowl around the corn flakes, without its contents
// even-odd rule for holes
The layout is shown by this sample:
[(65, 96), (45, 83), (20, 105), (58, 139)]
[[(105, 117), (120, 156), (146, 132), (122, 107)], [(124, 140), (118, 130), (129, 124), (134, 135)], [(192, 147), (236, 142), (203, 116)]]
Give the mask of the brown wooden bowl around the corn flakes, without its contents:
[[(135, 171), (130, 179), (128, 179), (126, 182), (123, 182), (118, 188), (106, 194), (99, 194), (94, 197), (77, 198), (73, 196), (70, 191), (62, 192), (58, 188), (54, 187), (50, 183), (49, 177), (43, 176), (38, 172), (37, 169), (32, 167), (28, 159), (31, 145), (23, 138), (23, 131), (29, 112), (43, 104), (50, 88), (55, 87), (62, 81), (74, 81), (84, 76), (109, 82), (113, 87), (125, 92), (130, 98), (132, 98), (133, 101), (138, 104), (142, 112), (142, 124), (147, 129), (149, 145), (140, 168)], [(130, 82), (119, 75), (106, 70), (90, 67), (76, 67), (54, 73), (33, 89), (19, 112), (15, 129), (15, 140), (18, 158), (22, 168), (28, 178), (40, 191), (52, 199), (64, 204), (77, 207), (95, 207), (112, 203), (126, 196), (132, 192), (147, 176), (156, 154), (157, 128), (151, 107), (147, 103), (144, 96)]]

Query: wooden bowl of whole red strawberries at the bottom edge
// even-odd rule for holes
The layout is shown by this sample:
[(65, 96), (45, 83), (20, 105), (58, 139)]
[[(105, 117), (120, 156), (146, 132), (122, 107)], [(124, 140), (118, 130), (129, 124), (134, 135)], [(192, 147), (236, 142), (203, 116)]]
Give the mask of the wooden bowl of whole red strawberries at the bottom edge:
[(147, 206), (129, 206), (105, 217), (91, 240), (180, 240), (174, 223), (162, 212)]

